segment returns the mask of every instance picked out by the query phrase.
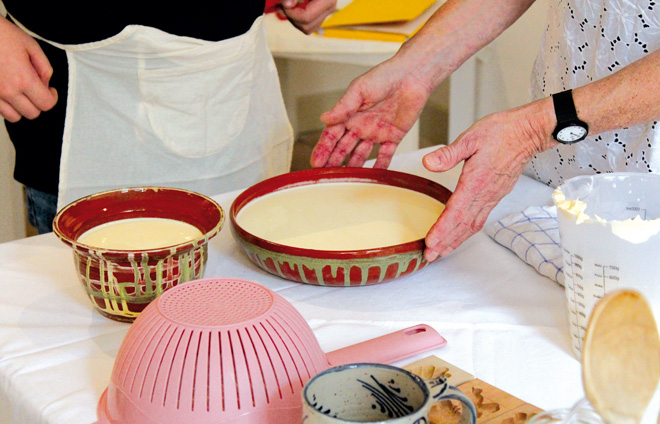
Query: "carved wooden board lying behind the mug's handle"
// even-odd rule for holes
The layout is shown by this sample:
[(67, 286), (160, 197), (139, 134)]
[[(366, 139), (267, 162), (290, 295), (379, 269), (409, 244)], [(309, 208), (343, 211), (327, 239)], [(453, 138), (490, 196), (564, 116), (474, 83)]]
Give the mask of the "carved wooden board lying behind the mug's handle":
[[(497, 387), (485, 383), (472, 374), (429, 356), (405, 367), (422, 378), (447, 377), (449, 384), (465, 393), (477, 409), (477, 424), (523, 424), (542, 409), (522, 401)], [(431, 424), (458, 422), (461, 404), (457, 401), (442, 401), (434, 405), (429, 414)]]

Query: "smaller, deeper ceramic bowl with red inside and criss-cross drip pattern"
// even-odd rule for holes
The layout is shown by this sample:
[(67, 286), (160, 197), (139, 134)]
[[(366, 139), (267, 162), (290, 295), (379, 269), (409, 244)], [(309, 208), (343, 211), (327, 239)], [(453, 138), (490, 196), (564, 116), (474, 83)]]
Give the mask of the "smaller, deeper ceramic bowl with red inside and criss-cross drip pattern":
[[(194, 240), (149, 250), (113, 250), (78, 242), (85, 231), (120, 219), (168, 218), (197, 227)], [(73, 249), (78, 277), (104, 316), (132, 322), (165, 290), (204, 275), (208, 241), (224, 223), (224, 211), (209, 197), (188, 190), (134, 187), (78, 199), (53, 221), (55, 234)]]

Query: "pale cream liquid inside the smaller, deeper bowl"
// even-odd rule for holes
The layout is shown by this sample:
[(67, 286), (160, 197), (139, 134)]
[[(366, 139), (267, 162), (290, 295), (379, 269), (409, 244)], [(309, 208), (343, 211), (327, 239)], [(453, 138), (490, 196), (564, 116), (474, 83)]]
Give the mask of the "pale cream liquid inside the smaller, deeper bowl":
[(197, 227), (175, 219), (134, 218), (91, 228), (77, 241), (102, 249), (143, 250), (174, 246), (201, 236)]

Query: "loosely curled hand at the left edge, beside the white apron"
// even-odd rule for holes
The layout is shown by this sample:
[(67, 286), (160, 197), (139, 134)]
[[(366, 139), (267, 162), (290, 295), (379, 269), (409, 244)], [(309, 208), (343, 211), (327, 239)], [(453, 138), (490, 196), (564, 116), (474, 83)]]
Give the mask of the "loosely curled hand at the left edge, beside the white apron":
[(53, 68), (39, 44), (0, 16), (0, 115), (9, 122), (34, 119), (57, 103), (49, 87)]

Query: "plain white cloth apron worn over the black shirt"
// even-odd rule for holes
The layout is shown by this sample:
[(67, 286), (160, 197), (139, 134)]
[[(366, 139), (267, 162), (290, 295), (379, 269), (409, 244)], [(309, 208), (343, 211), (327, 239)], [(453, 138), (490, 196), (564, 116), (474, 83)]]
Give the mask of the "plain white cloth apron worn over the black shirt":
[(69, 62), (58, 209), (112, 188), (214, 195), (287, 172), (293, 132), (262, 21), (219, 42), (130, 25), (51, 43)]

